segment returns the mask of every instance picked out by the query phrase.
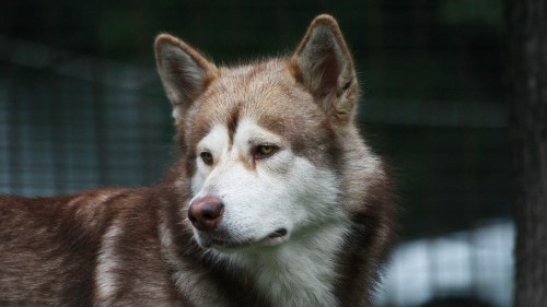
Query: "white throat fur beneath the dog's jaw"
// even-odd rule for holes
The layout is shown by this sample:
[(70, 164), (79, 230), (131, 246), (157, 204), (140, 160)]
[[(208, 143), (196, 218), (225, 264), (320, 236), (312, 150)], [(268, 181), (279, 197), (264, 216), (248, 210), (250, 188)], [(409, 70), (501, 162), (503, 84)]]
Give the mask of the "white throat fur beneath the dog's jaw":
[(321, 225), (280, 246), (230, 255), (271, 306), (338, 306), (334, 295), (345, 223)]

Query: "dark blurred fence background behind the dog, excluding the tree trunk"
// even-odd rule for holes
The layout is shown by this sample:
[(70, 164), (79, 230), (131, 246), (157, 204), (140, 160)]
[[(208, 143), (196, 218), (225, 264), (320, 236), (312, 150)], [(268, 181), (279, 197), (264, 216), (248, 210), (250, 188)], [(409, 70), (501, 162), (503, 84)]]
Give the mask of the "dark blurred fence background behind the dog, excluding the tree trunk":
[(161, 181), (174, 129), (154, 36), (236, 64), (289, 55), (318, 13), (338, 19), (354, 55), (359, 125), (404, 209), (377, 306), (511, 306), (501, 0), (8, 1), (0, 193)]

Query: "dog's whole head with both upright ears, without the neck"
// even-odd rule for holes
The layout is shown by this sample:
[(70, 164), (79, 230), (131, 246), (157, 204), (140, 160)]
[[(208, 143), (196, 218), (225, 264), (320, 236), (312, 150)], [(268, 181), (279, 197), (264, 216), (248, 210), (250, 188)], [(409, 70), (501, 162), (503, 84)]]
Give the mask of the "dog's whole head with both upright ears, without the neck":
[(292, 57), (218, 68), (160, 35), (158, 68), (191, 179), (187, 208), (203, 247), (271, 246), (345, 219), (345, 131), (358, 83), (336, 21), (316, 17)]

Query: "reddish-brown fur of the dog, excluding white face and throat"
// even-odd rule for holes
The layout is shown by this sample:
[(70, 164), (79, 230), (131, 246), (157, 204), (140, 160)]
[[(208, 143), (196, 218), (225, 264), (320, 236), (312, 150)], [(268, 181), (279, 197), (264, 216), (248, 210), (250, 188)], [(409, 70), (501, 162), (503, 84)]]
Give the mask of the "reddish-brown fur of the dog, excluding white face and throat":
[(0, 306), (275, 306), (253, 274), (198, 246), (187, 220), (197, 143), (218, 122), (232, 138), (245, 116), (337, 174), (351, 226), (333, 292), (338, 306), (370, 306), (395, 210), (353, 122), (358, 82), (336, 21), (316, 17), (292, 57), (247, 67), (217, 68), (166, 34), (155, 50), (179, 160), (158, 187), (0, 197)]

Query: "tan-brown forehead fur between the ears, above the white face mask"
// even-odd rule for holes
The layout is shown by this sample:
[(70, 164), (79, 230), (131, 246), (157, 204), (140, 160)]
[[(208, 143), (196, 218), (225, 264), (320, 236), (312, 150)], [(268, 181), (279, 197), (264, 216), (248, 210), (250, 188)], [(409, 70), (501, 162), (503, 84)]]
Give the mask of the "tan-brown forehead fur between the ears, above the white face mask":
[(197, 144), (219, 125), (225, 128), (231, 144), (241, 123), (251, 120), (265, 131), (282, 135), (298, 155), (333, 160), (334, 149), (324, 149), (324, 144), (334, 143), (336, 134), (328, 117), (284, 61), (221, 68), (220, 76), (194, 107), (185, 126), (190, 152), (196, 152)]

